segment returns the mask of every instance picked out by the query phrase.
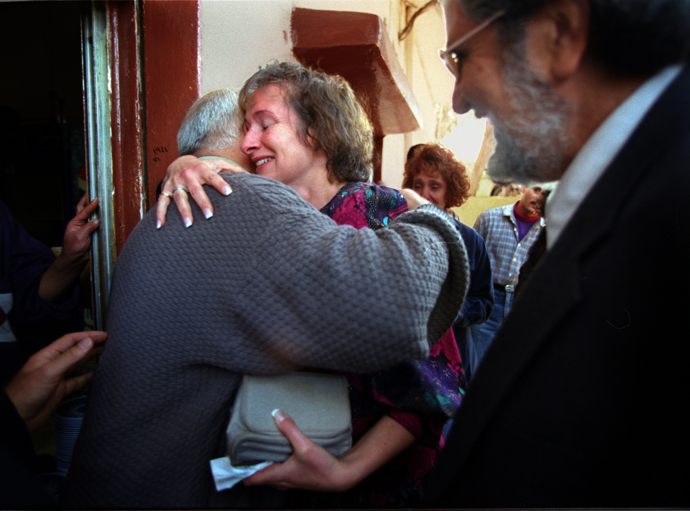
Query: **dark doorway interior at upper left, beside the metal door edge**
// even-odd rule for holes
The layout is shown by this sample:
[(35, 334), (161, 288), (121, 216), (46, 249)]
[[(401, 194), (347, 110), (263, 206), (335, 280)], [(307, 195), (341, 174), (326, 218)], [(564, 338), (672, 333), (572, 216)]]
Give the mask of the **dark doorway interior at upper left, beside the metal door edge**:
[(0, 2), (0, 48), (0, 200), (61, 246), (84, 188), (80, 3)]

